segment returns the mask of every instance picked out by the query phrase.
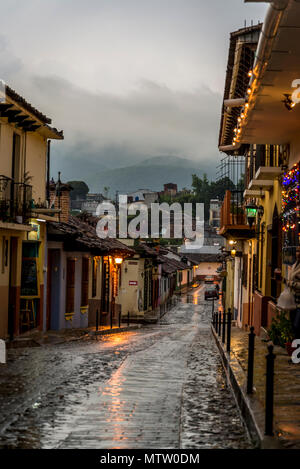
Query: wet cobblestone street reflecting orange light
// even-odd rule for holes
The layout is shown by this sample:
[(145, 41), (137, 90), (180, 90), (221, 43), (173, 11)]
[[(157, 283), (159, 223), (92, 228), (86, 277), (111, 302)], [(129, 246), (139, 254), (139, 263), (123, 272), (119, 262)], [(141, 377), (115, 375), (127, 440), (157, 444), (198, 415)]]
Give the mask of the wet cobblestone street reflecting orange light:
[(161, 324), (10, 350), (1, 448), (251, 448), (202, 290)]

